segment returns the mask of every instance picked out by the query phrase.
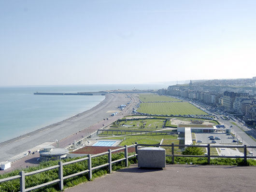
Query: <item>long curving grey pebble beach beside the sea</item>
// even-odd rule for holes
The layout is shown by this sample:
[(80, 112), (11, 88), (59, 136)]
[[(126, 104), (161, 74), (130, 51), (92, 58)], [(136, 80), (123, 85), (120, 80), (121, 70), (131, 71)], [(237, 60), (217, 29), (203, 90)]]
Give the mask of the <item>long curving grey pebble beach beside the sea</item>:
[(86, 130), (93, 124), (111, 118), (111, 112), (118, 110), (117, 106), (127, 104), (130, 98), (126, 94), (106, 94), (105, 99), (90, 110), (72, 116), (61, 122), (45, 126), (20, 137), (0, 143), (0, 162), (7, 161), (23, 151), (28, 151), (45, 142), (55, 142), (69, 137), (83, 130), (84, 135), (89, 135), (92, 129)]

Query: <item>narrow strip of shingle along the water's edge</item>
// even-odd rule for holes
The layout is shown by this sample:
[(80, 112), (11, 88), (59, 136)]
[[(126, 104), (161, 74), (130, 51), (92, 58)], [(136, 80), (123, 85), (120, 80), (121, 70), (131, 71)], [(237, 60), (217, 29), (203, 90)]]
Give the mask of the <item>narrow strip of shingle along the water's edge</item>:
[[(98, 105), (100, 105), (102, 102), (104, 102), (104, 101), (107, 99), (107, 98), (106, 98), (106, 95), (104, 95), (104, 96), (105, 96), (105, 98), (104, 98), (102, 101), (100, 101), (99, 104), (97, 104), (96, 106), (94, 106), (93, 108), (91, 108), (91, 109), (89, 109), (89, 110), (93, 110), (94, 108), (97, 108)], [(50, 128), (50, 127), (53, 127), (53, 126), (55, 126), (55, 125), (58, 125), (59, 123), (63, 123), (63, 122), (65, 122), (65, 121), (72, 120), (72, 119), (74, 119), (74, 118), (76, 118), (76, 117), (78, 117), (78, 116), (80, 116), (80, 115), (85, 114), (85, 113), (86, 113), (87, 111), (89, 111), (89, 110), (85, 110), (85, 111), (83, 111), (83, 112), (81, 112), (81, 113), (78, 113), (78, 114), (75, 114), (75, 115), (73, 115), (73, 116), (71, 116), (71, 117), (69, 117), (69, 118), (67, 118), (67, 119), (58, 121), (57, 123), (52, 123), (52, 124), (46, 125), (46, 126), (44, 126), (44, 127), (42, 127), (42, 128), (39, 128), (39, 129), (37, 129), (37, 130), (34, 130), (34, 131), (31, 131), (31, 132), (25, 133), (25, 134), (23, 134), (23, 135), (21, 135), (21, 136), (14, 137), (14, 138), (12, 138), (12, 139), (8, 139), (8, 140), (6, 140), (6, 141), (0, 142), (0, 146), (1, 146), (2, 144), (3, 144), (3, 145), (6, 145), (6, 144), (8, 144), (9, 142), (15, 142), (15, 141), (20, 140), (20, 139), (25, 139), (25, 138), (23, 138), (23, 137), (25, 137), (25, 136), (30, 136), (30, 135), (36, 134), (36, 133), (38, 133), (38, 132), (44, 131), (45, 129), (48, 129), (48, 128)]]

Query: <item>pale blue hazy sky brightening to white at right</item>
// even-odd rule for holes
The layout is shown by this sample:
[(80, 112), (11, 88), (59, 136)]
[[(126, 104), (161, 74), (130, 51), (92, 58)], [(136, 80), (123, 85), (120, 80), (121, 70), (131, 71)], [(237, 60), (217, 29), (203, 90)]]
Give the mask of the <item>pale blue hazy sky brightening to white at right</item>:
[(0, 86), (254, 76), (255, 0), (0, 0)]

